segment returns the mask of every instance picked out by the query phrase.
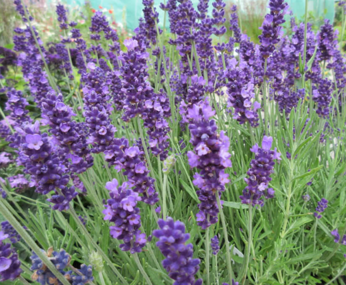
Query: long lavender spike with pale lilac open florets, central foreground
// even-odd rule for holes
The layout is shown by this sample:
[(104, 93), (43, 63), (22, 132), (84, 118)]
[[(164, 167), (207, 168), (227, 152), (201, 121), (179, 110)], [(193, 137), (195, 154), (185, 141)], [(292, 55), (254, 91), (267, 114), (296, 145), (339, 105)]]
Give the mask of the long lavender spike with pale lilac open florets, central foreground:
[(215, 120), (209, 118), (215, 114), (208, 100), (194, 104), (189, 109), (189, 129), (194, 151), (188, 151), (190, 167), (201, 171), (194, 175), (193, 183), (200, 188), (197, 191), (201, 201), (197, 221), (202, 228), (207, 228), (218, 221), (219, 208), (215, 195), (221, 195), (225, 184), (230, 180), (225, 168), (231, 167), (230, 141), (224, 131), (217, 133)]

